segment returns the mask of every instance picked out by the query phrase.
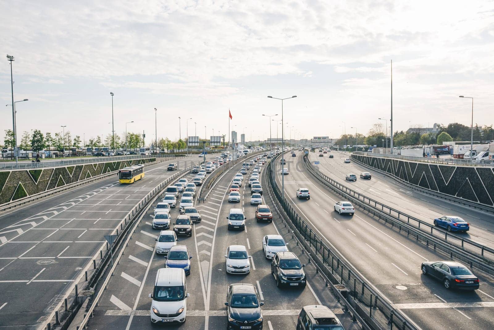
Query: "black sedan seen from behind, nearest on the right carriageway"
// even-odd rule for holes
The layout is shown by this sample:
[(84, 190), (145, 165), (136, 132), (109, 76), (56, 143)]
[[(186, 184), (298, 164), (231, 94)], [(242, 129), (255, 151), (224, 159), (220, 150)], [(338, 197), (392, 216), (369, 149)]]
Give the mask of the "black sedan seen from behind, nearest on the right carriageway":
[(424, 261), (420, 265), (422, 274), (430, 275), (441, 281), (446, 289), (476, 290), (479, 279), (468, 269), (456, 261)]

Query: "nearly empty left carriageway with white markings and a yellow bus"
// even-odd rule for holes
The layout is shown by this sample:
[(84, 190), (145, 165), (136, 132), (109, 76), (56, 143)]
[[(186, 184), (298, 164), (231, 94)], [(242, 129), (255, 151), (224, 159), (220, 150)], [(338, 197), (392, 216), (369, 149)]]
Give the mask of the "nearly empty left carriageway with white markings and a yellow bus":
[[(171, 162), (180, 170), (201, 160)], [(99, 251), (106, 252), (104, 235), (176, 173), (166, 170), (168, 162), (146, 166), (144, 179), (132, 185), (120, 184), (115, 175), (1, 213), (0, 328), (43, 324), (93, 258), (99, 262)]]

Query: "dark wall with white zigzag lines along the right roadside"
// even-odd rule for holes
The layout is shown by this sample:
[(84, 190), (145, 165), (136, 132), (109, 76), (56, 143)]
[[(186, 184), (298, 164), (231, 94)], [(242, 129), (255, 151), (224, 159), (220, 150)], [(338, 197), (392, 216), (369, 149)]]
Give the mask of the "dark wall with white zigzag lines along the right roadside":
[(492, 167), (438, 165), (363, 155), (352, 158), (415, 186), (494, 206)]

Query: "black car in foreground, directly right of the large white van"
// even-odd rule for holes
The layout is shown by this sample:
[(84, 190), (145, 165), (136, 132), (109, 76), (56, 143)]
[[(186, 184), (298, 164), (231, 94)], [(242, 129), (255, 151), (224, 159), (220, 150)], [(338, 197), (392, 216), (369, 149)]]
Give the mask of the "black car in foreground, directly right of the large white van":
[(226, 329), (262, 329), (263, 302), (252, 284), (231, 284), (226, 293), (228, 322)]

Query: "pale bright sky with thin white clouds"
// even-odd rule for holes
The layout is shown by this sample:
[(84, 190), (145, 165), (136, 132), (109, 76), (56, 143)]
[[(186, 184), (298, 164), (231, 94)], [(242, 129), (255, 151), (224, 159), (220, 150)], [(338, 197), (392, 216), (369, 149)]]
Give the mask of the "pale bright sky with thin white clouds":
[[(9, 54), (14, 100), (29, 99), (16, 105), (18, 139), (61, 125), (86, 142), (106, 136), (110, 92), (115, 132), (133, 121), (127, 130), (147, 141), (155, 126), (171, 140), (187, 130), (226, 134), (229, 109), (239, 139), (266, 139), (262, 115), (282, 117), (268, 95), (297, 95), (283, 104), (286, 138), (366, 134), (390, 118), (391, 60), (394, 131), (470, 125), (471, 100), (458, 95), (474, 97), (474, 125), (494, 123), (494, 1), (0, 0), (0, 8), (0, 98), (11, 104)], [(3, 141), (12, 108), (0, 109)]]

